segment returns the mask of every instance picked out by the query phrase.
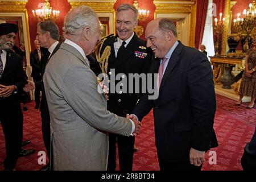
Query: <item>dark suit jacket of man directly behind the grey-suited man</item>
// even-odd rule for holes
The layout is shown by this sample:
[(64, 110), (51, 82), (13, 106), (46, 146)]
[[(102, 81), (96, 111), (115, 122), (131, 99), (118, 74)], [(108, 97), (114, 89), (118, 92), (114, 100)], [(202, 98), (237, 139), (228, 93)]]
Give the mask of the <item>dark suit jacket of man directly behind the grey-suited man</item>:
[[(46, 52), (46, 53), (44, 53), (44, 56), (41, 58), (41, 76), (42, 77), (44, 76), (44, 71), (46, 71), (46, 65), (47, 65), (49, 59), (51, 59), (52, 55), (54, 55), (57, 52), (57, 50), (60, 48), (60, 45), (61, 45), (61, 43), (57, 44), (57, 46), (53, 50), (50, 57), (49, 57), (49, 52)], [(41, 100), (41, 104), (40, 104), (40, 111), (49, 113), (47, 100), (46, 100), (46, 90), (44, 90), (43, 81), (42, 81), (42, 100)]]

